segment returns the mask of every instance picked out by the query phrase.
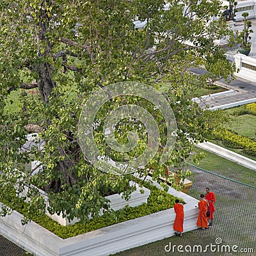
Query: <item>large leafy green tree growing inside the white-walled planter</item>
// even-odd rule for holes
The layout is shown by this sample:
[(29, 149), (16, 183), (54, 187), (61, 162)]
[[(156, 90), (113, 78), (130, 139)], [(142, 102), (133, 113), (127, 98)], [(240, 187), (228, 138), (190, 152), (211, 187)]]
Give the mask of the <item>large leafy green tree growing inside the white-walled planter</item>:
[[(89, 214), (97, 216), (101, 207), (108, 209), (103, 196), (109, 189), (127, 189), (131, 175), (101, 172), (86, 159), (77, 129), (84, 101), (93, 92), (122, 81), (157, 89), (168, 85), (164, 97), (177, 124), (175, 147), (160, 163), (161, 146), (167, 139), (163, 116), (148, 100), (122, 95), (104, 103), (97, 113), (99, 123), (93, 132), (100, 152), (127, 161), (150, 147), (145, 126), (131, 118), (118, 124), (122, 132), (116, 132), (116, 140), (127, 143), (127, 132), (136, 129), (140, 138), (134, 150), (115, 152), (104, 141), (102, 127), (108, 111), (132, 102), (156, 118), (161, 135), (158, 153), (138, 172), (147, 174), (154, 166), (154, 179), (164, 176), (166, 168), (185, 177), (182, 164), (193, 151), (191, 138), (203, 140), (207, 132), (220, 127), (216, 116), (221, 118), (220, 111), (198, 108), (191, 94), (233, 72), (225, 51), (214, 44), (223, 35), (232, 36), (225, 22), (216, 19), (220, 6), (216, 0), (174, 0), (167, 6), (163, 0), (1, 1), (1, 190), (8, 195), (13, 189), (17, 193), (28, 189), (11, 206), (27, 200), (29, 214), (44, 212), (39, 187), (49, 196), (48, 211), (67, 212), (71, 219), (77, 216), (86, 221)], [(135, 20), (143, 21), (143, 28), (136, 28)], [(207, 71), (204, 75), (191, 72), (200, 67)], [(38, 94), (31, 95), (32, 88)], [(19, 106), (12, 104), (12, 95)], [(44, 150), (20, 151), (31, 132), (38, 132)], [(42, 172), (26, 169), (33, 160), (42, 163)]]

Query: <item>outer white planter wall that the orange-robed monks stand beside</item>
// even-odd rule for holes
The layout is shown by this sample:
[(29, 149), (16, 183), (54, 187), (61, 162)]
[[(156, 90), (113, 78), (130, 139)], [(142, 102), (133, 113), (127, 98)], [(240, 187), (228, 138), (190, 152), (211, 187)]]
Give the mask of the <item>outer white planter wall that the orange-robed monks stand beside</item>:
[[(154, 184), (159, 187), (156, 182)], [(186, 202), (184, 232), (198, 228), (198, 200), (172, 188), (168, 193), (183, 198)], [(68, 239), (61, 239), (33, 221), (22, 226), (21, 219), (22, 215), (18, 212), (1, 217), (0, 233), (34, 255), (104, 256), (173, 236), (175, 212), (173, 208), (167, 209)]]

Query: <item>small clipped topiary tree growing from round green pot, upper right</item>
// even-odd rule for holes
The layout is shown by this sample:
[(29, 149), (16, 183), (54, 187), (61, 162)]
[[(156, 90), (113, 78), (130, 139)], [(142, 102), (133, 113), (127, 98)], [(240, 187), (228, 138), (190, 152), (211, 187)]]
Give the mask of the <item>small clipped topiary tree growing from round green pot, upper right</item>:
[(246, 17), (248, 17), (248, 12), (244, 12), (242, 16), (244, 17), (244, 29), (237, 33), (237, 42), (240, 44), (240, 48), (249, 51), (251, 49), (251, 42), (248, 42), (252, 37), (249, 36), (250, 33), (253, 33), (253, 30), (250, 29), (252, 27), (252, 21), (247, 20)]

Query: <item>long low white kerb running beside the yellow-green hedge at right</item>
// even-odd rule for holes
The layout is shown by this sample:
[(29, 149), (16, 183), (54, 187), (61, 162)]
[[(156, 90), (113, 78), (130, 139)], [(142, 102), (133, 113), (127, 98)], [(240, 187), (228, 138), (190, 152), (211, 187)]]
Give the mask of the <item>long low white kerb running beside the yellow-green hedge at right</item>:
[(209, 152), (212, 152), (218, 156), (224, 157), (228, 160), (231, 160), (237, 164), (241, 164), (244, 167), (250, 168), (252, 170), (256, 171), (256, 161), (253, 161), (252, 159), (241, 156), (240, 154), (237, 154), (236, 152), (233, 152), (231, 150), (228, 150), (226, 148), (220, 147), (214, 143), (211, 143), (209, 141), (205, 141), (203, 143), (196, 144), (197, 147), (203, 148)]

